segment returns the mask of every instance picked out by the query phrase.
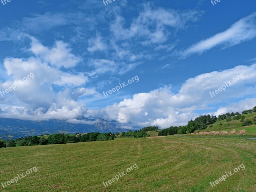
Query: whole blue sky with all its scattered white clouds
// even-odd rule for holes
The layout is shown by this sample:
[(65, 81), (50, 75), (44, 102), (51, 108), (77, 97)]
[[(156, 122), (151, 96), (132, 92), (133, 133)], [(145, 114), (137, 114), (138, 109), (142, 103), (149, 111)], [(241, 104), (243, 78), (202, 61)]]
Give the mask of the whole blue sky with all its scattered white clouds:
[(2, 3), (0, 91), (35, 78), (0, 96), (0, 117), (85, 116), (166, 128), (252, 108), (255, 8), (255, 1), (228, 0)]

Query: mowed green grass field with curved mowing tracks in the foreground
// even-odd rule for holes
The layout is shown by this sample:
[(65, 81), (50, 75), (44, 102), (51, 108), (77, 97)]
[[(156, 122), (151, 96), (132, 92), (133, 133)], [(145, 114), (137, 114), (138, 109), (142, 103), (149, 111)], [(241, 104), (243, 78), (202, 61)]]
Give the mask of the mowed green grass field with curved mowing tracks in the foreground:
[[(104, 188), (118, 172), (138, 169)], [(214, 188), (210, 181), (244, 164)], [(166, 136), (0, 149), (0, 182), (37, 172), (1, 191), (256, 191), (256, 141)]]

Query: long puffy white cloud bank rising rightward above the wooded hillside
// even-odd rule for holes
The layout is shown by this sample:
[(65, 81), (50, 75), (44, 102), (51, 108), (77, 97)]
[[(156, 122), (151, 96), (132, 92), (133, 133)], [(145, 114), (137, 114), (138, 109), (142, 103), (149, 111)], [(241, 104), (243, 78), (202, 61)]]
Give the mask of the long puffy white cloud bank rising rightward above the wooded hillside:
[[(218, 89), (241, 73), (244, 74), (244, 79), (228, 87), (225, 92), (220, 92), (215, 97), (210, 96), (210, 91)], [(172, 92), (171, 86), (164, 86), (148, 93), (135, 94), (131, 99), (124, 99), (120, 103), (107, 106), (99, 111), (89, 110), (89, 112), (107, 119), (115, 119), (121, 123), (132, 121), (137, 124), (158, 125), (161, 128), (166, 128), (171, 125), (187, 124), (188, 120), (198, 116), (193, 111), (210, 110), (208, 106), (211, 104), (229, 99), (243, 100), (245, 96), (256, 97), (255, 83), (256, 64), (237, 66), (190, 78), (182, 85), (177, 94)], [(251, 106), (254, 101), (251, 100)], [(237, 107), (238, 111), (250, 108), (249, 105), (243, 107), (237, 105)], [(147, 116), (145, 116), (145, 111), (147, 111)], [(221, 113), (223, 111), (221, 109)]]

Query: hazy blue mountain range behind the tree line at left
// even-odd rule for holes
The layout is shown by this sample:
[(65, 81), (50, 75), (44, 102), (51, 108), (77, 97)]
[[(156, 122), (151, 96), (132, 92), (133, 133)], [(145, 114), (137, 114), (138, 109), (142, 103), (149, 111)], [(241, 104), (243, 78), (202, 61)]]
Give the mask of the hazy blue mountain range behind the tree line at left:
[(0, 137), (3, 139), (53, 133), (88, 133), (88, 132), (122, 132), (141, 127), (119, 123), (115, 120), (88, 119), (78, 117), (71, 120), (51, 119), (48, 121), (29, 121), (20, 119), (0, 118)]

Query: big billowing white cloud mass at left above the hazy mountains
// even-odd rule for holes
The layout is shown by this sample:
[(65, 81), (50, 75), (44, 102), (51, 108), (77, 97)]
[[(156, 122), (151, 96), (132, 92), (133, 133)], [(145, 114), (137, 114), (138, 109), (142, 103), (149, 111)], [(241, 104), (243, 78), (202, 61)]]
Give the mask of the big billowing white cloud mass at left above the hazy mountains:
[[(66, 67), (76, 64), (77, 58), (68, 53), (68, 49), (52, 50), (41, 45), (33, 38), (32, 52), (36, 56), (27, 59), (7, 57), (4, 59), (4, 73), (8, 78), (0, 82), (0, 89), (5, 90), (15, 82), (19, 82), (28, 74), (34, 78), (20, 84), (15, 91), (0, 97), (3, 113), (1, 117), (21, 118), (29, 120), (45, 120), (50, 118), (70, 119), (84, 115), (85, 104), (78, 102), (80, 96), (97, 95), (93, 88), (76, 88), (86, 84), (88, 77), (83, 73), (63, 72), (57, 61), (67, 60)], [(45, 56), (48, 52), (57, 52), (58, 59)], [(62, 52), (62, 53), (60, 53)], [(50, 54), (50, 53), (49, 53)], [(66, 54), (66, 55), (65, 55)], [(71, 65), (71, 66), (72, 66)], [(62, 89), (56, 87), (62, 86)], [(62, 90), (62, 91), (58, 91)]]

